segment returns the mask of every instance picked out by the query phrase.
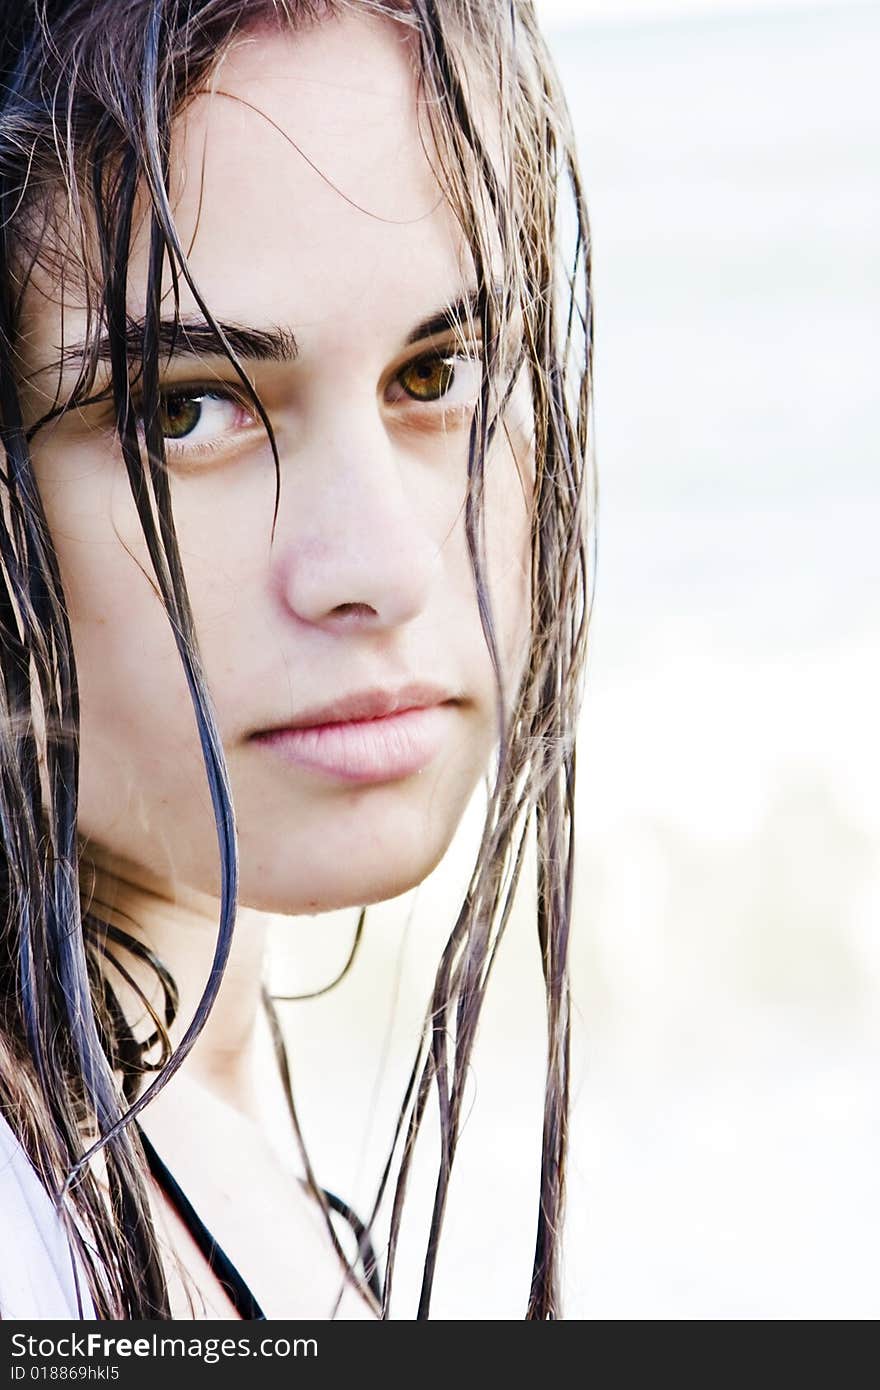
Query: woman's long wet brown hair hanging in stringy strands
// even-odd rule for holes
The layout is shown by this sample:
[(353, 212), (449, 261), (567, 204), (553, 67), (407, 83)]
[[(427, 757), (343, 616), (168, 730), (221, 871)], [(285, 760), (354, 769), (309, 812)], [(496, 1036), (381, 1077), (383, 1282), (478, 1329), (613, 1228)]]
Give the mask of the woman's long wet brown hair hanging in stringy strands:
[[(175, 288), (189, 286), (217, 350), (239, 371), (272, 442), (279, 486), (271, 423), (235, 343), (200, 296), (175, 229), (171, 129), (238, 35), (272, 25), (298, 29), (350, 8), (382, 15), (410, 43), (425, 152), (475, 277), (484, 367), (468, 438), (464, 527), (499, 682), (500, 738), (473, 874), (442, 952), (377, 1195), (377, 1211), (385, 1194), (391, 1201), (381, 1312), (389, 1311), (413, 1148), (434, 1095), (441, 1162), (418, 1304), (418, 1316), (428, 1316), (468, 1063), (534, 834), (546, 1088), (524, 1308), (531, 1319), (560, 1316), (574, 744), (595, 559), (592, 310), (589, 235), (571, 129), (531, 0), (0, 0), (0, 1113), (56, 1202), (101, 1318), (170, 1316), (132, 1119), (174, 1074), (211, 1009), (238, 895), (229, 781), (164, 470), (158, 307), (167, 270)], [(143, 332), (132, 352), (125, 295), (136, 206), (146, 207), (150, 253)], [(19, 392), (22, 296), (36, 265), (57, 277), (78, 274), (89, 309), (79, 378), (49, 416), (90, 399), (96, 342), (106, 334), (113, 345), (107, 391), (121, 456), (186, 673), (217, 826), (215, 955), (195, 1017), (174, 1049), (174, 980), (145, 945), (101, 919), (89, 884), (81, 881), (76, 666), (31, 463), (31, 439), (44, 420), (25, 425)], [(523, 374), (535, 460), (531, 634), (513, 708), (503, 713), (481, 549), (482, 480), (488, 450), (505, 428), (513, 382)], [(161, 984), (161, 1009), (142, 992), (149, 1037), (135, 1037), (111, 984), (113, 972), (133, 980), (121, 956), (125, 949)]]

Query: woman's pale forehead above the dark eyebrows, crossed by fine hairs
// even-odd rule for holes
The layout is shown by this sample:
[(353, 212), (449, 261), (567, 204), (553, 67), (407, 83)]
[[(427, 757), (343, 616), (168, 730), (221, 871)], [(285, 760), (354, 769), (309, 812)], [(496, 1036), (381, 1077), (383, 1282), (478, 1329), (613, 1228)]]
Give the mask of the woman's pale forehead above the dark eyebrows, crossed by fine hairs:
[[(221, 321), (289, 327), (316, 352), (389, 342), (455, 303), (473, 270), (431, 168), (400, 29), (346, 15), (238, 40), (178, 120), (171, 202), (193, 281)], [(140, 202), (128, 309), (143, 314), (149, 218)], [(43, 274), (32, 343), (82, 341), (86, 296)], [(167, 271), (165, 304), (171, 310)], [(179, 285), (184, 317), (197, 313)], [(38, 364), (35, 364), (36, 367)]]

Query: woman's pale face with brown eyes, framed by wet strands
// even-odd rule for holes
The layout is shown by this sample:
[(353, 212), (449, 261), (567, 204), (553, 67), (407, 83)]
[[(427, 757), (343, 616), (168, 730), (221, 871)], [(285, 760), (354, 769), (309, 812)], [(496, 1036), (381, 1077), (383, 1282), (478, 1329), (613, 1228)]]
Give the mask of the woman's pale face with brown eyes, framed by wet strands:
[[(420, 881), (496, 738), (463, 517), (480, 368), (453, 356), (442, 324), (474, 282), (420, 143), (398, 28), (349, 17), (246, 36), (214, 88), (177, 131), (175, 220), (195, 282), (235, 327), (274, 424), (274, 541), (266, 432), (231, 393), (225, 359), (199, 346), (185, 286), (192, 332), (172, 359), (163, 353), (163, 430), (232, 783), (242, 901), (320, 912)], [(139, 227), (132, 320), (143, 314), (147, 240)], [(170, 295), (163, 309), (171, 317)], [(38, 272), (26, 297), (29, 370), (57, 361), (83, 332), (74, 282), (61, 293)], [(32, 378), (33, 417), (56, 385), (51, 373)], [(514, 425), (527, 413), (520, 400)], [(484, 502), (507, 698), (528, 639), (527, 456), (525, 431), (513, 428), (489, 457)], [(81, 833), (122, 872), (215, 892), (192, 705), (111, 409), (72, 410), (44, 427), (33, 457), (81, 684)], [(388, 713), (413, 705), (427, 708)]]

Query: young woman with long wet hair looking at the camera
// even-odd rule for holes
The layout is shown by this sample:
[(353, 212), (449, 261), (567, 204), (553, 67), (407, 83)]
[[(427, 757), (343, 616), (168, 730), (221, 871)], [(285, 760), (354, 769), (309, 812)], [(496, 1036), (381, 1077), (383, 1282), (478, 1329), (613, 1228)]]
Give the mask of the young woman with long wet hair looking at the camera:
[[(534, 833), (559, 1316), (591, 313), (531, 3), (1, 17), (0, 1315), (388, 1316), (438, 1106), (428, 1316)], [(412, 888), (482, 781), (377, 1255), (299, 1143), (266, 920)]]

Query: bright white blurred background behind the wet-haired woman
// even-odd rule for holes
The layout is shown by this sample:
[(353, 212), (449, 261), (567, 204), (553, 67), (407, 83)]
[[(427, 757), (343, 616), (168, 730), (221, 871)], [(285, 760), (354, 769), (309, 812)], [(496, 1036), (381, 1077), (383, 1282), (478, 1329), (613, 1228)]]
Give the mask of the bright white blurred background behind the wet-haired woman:
[[(599, 564), (578, 746), (569, 1318), (876, 1318), (880, 11), (537, 0), (595, 247)], [(367, 1209), (478, 817), (282, 1005)], [(434, 1316), (520, 1318), (542, 998), (521, 895)], [(320, 930), (316, 930), (320, 927)], [(317, 988), (353, 913), (279, 923)], [(395, 1315), (435, 1172), (413, 1179)]]

